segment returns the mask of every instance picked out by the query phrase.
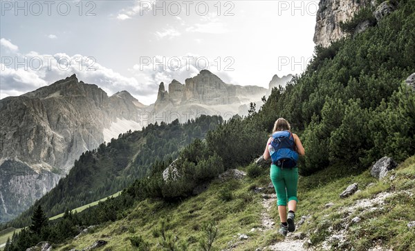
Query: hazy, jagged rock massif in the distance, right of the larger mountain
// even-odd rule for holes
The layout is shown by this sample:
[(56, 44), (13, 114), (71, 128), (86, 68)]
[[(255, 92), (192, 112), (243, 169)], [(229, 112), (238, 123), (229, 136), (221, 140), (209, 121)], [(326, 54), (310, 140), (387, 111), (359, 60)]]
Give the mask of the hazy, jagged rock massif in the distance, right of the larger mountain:
[(184, 122), (201, 114), (219, 114), (229, 119), (237, 113), (245, 114), (241, 109), (252, 101), (260, 101), (266, 94), (265, 88), (224, 83), (212, 72), (201, 70), (195, 77), (186, 79), (185, 85), (173, 80), (169, 92), (160, 83), (154, 117), (167, 122), (178, 118)]

